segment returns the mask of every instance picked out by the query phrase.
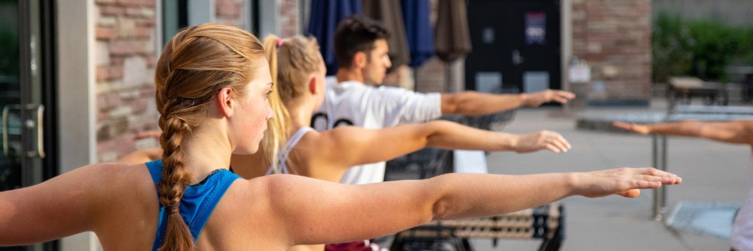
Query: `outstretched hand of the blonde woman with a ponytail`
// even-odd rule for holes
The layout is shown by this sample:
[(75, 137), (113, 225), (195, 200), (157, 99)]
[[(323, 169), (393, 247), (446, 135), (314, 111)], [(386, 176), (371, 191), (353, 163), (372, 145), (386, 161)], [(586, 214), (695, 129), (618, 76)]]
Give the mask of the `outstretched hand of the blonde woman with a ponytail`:
[(551, 152), (567, 152), (572, 146), (561, 134), (550, 130), (520, 135), (513, 143), (517, 153), (536, 152), (547, 149)]

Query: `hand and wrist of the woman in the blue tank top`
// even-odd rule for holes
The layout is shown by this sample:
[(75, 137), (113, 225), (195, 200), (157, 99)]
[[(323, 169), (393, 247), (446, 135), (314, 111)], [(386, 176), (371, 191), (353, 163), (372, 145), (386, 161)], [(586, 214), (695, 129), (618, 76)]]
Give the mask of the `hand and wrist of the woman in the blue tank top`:
[(673, 173), (654, 167), (623, 167), (588, 173), (574, 173), (576, 194), (584, 197), (605, 197), (619, 194), (623, 197), (638, 197), (639, 189), (654, 189), (661, 185), (680, 184), (682, 179)]

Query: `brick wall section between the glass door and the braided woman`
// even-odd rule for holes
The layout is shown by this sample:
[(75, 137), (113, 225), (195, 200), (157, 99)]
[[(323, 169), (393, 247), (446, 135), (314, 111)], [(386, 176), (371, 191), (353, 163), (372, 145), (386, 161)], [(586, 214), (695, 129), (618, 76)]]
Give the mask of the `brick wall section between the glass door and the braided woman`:
[(136, 150), (135, 133), (157, 128), (154, 1), (96, 0), (99, 14), (95, 33), (99, 161), (114, 161), (133, 152)]

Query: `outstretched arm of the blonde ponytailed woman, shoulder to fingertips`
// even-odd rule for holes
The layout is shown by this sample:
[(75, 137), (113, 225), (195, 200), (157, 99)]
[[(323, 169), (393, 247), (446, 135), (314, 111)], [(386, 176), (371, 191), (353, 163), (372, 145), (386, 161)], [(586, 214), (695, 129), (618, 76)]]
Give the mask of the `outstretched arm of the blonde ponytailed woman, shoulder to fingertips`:
[(451, 121), (404, 124), (381, 130), (337, 127), (319, 134), (316, 142), (323, 164), (348, 168), (387, 161), (424, 147), (482, 150), (490, 152), (535, 152), (543, 149), (567, 152), (569, 142), (559, 133), (542, 130), (517, 135), (480, 130)]

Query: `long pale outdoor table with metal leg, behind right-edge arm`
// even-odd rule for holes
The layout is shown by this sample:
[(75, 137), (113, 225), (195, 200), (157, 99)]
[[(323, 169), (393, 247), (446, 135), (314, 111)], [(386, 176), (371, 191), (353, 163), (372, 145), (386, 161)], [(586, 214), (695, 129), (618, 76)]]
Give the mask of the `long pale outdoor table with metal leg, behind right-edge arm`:
[[(656, 124), (678, 121), (735, 121), (753, 120), (753, 106), (675, 106), (669, 112), (630, 112), (616, 115), (584, 115), (578, 118), (578, 129), (599, 130), (611, 133), (629, 133), (615, 128), (612, 123), (621, 121), (635, 124)], [(666, 135), (651, 134), (651, 165), (666, 171)], [(666, 188), (654, 189), (652, 213), (654, 220), (662, 220), (666, 207)]]

